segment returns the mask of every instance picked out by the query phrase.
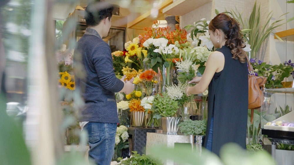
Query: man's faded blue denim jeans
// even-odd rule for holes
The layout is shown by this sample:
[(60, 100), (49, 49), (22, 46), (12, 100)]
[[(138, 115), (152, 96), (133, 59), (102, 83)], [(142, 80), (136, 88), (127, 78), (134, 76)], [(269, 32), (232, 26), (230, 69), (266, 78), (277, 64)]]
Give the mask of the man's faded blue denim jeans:
[(89, 159), (98, 165), (110, 165), (116, 135), (116, 123), (88, 122), (83, 129), (88, 131)]

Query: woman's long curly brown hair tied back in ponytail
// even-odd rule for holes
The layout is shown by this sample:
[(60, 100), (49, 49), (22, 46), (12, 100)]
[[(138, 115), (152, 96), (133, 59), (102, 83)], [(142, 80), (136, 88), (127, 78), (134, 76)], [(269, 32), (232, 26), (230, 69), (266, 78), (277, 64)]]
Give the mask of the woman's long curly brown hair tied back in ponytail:
[(245, 63), (246, 53), (243, 50), (245, 44), (243, 35), (240, 33), (238, 21), (227, 14), (220, 13), (210, 21), (208, 28), (213, 32), (215, 32), (216, 29), (223, 31), (226, 40), (225, 45), (230, 46), (233, 58), (239, 59), (241, 63)]

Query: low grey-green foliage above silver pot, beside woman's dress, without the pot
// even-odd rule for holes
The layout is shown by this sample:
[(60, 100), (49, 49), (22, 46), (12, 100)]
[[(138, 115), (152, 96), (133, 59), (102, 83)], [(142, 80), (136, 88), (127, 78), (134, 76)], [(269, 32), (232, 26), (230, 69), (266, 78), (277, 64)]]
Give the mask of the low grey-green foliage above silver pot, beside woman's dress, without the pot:
[(202, 135), (206, 133), (207, 120), (191, 120), (188, 119), (178, 124), (180, 132), (184, 135)]

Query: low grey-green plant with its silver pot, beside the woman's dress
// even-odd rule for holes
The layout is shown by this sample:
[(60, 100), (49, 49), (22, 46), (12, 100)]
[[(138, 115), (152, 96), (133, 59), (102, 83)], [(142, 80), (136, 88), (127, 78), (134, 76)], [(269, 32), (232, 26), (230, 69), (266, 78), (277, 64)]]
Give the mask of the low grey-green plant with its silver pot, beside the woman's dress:
[(201, 151), (201, 146), (203, 138), (206, 134), (206, 124), (207, 120), (191, 120), (188, 119), (181, 122), (178, 126), (180, 127), (180, 132), (186, 136), (190, 136), (190, 142), (192, 144), (192, 149), (195, 147), (197, 151)]

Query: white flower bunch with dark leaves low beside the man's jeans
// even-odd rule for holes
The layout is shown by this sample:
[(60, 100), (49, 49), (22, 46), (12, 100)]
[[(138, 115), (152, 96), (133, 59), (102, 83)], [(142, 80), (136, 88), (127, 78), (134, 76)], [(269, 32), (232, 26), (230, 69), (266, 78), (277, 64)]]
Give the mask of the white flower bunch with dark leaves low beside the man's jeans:
[(116, 128), (113, 161), (116, 161), (117, 158), (122, 156), (122, 149), (129, 147), (129, 142), (127, 141), (128, 137), (128, 128), (126, 126), (120, 125)]

